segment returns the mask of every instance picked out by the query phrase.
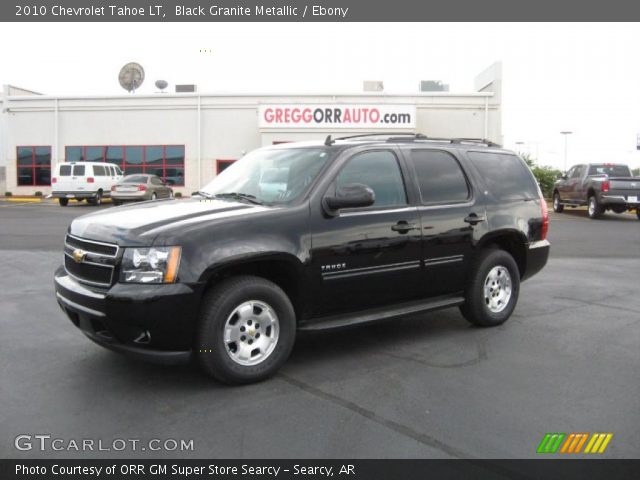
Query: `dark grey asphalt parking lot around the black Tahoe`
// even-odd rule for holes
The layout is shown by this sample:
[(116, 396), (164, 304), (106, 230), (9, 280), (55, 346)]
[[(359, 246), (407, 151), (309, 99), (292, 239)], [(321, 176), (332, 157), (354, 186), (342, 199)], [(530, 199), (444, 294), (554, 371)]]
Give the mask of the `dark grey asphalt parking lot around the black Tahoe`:
[(193, 439), (184, 458), (533, 458), (546, 432), (612, 432), (640, 452), (640, 221), (552, 214), (552, 257), (509, 322), (457, 310), (299, 337), (275, 378), (220, 385), (86, 339), (54, 300), (67, 224), (96, 208), (0, 203), (0, 457), (20, 434)]

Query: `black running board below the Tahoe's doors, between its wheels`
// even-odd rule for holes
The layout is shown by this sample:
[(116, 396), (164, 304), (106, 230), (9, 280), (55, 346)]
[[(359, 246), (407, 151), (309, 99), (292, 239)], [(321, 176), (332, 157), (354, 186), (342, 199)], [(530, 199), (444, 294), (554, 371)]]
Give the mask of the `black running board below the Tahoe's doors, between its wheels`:
[(311, 320), (312, 323), (301, 325), (298, 330), (304, 332), (330, 330), (334, 328), (351, 327), (364, 323), (380, 322), (392, 318), (415, 315), (417, 313), (432, 312), (443, 308), (456, 307), (464, 303), (464, 297), (435, 297), (429, 300), (417, 300), (400, 303), (391, 307), (378, 307), (361, 312), (351, 312)]

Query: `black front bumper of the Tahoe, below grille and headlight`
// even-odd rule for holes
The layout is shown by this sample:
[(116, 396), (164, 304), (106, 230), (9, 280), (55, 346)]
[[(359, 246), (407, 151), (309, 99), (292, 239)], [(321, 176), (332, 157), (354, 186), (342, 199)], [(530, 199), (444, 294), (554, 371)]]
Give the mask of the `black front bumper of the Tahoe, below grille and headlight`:
[(73, 324), (97, 344), (162, 364), (191, 358), (200, 292), (185, 284), (116, 283), (90, 289), (60, 266), (56, 299)]

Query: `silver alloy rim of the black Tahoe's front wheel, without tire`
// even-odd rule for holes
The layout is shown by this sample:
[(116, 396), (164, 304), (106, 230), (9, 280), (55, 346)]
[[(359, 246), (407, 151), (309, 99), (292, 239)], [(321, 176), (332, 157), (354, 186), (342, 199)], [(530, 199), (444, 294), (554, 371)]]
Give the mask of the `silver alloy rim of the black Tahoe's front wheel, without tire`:
[(224, 325), (224, 345), (229, 358), (239, 365), (264, 362), (278, 344), (280, 322), (265, 302), (249, 300), (238, 305)]

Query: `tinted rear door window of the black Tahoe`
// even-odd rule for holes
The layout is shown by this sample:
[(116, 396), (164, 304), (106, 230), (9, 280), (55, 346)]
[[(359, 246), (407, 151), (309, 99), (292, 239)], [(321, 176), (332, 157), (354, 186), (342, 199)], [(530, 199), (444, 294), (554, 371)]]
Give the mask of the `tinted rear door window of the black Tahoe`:
[(423, 204), (458, 203), (469, 199), (469, 185), (453, 155), (437, 150), (412, 150)]

